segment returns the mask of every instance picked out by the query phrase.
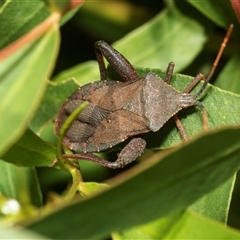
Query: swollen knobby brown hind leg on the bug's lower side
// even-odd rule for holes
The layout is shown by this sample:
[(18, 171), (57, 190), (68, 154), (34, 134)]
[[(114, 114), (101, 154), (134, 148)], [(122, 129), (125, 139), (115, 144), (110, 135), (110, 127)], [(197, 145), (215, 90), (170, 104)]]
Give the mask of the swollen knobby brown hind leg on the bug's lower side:
[(133, 138), (118, 154), (118, 158), (115, 162), (106, 161), (92, 153), (65, 154), (63, 157), (88, 160), (108, 168), (123, 168), (125, 165), (135, 161), (137, 157), (141, 156), (145, 147), (145, 140), (142, 138)]

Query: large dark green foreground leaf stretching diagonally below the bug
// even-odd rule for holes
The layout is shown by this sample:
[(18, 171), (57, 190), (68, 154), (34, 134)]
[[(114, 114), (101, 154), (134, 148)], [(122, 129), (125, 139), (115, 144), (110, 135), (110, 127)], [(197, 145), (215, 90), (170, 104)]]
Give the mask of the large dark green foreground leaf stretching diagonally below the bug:
[(158, 152), (109, 182), (116, 187), (63, 207), (29, 228), (61, 239), (99, 239), (181, 211), (239, 170), (239, 134), (239, 127), (219, 129), (169, 154)]

